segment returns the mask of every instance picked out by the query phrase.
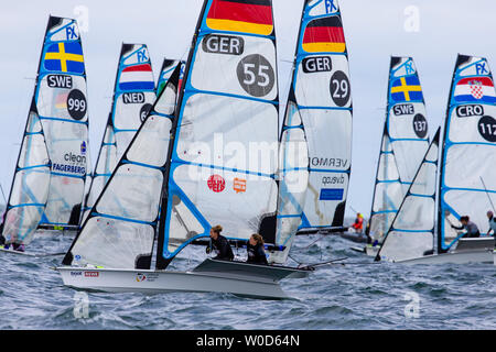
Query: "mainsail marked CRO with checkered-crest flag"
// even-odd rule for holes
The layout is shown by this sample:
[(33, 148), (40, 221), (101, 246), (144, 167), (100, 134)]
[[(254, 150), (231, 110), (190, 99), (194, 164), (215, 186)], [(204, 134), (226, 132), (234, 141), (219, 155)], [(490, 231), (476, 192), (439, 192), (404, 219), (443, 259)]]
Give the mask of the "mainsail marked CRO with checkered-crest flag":
[(495, 164), (493, 76), (485, 58), (459, 55), (444, 127), (438, 229), (441, 253), (456, 242), (451, 224), (460, 226), (462, 216), (468, 216), (481, 233), (488, 229), (486, 212), (496, 204)]

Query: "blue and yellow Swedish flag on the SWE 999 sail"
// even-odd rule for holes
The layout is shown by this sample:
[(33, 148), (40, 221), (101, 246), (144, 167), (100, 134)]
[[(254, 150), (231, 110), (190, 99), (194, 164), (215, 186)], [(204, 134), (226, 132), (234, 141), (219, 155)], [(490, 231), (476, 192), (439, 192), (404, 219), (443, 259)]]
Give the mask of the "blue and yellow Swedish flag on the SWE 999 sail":
[(45, 69), (67, 74), (83, 74), (85, 63), (79, 42), (56, 43), (45, 52)]

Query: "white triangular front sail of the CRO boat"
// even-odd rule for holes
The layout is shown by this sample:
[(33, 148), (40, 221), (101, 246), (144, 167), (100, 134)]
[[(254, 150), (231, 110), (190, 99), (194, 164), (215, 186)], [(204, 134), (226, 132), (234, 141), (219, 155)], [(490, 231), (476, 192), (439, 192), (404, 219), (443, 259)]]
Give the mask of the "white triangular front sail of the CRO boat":
[(409, 186), (376, 260), (405, 261), (433, 252), (440, 130)]

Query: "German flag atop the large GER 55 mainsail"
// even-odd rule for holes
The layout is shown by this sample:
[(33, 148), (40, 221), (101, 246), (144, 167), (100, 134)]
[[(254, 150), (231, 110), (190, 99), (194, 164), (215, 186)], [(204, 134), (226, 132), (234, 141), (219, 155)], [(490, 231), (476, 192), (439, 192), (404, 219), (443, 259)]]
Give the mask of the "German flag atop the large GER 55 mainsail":
[(273, 31), (271, 0), (213, 0), (206, 25), (216, 31), (270, 35)]

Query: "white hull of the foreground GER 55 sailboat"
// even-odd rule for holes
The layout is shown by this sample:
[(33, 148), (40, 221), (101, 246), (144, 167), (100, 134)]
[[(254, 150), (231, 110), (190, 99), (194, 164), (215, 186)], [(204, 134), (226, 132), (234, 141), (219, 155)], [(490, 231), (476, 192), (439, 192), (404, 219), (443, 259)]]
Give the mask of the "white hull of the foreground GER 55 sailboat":
[(278, 268), (273, 275), (257, 275), (255, 271), (247, 272), (240, 266), (238, 271), (226, 266), (227, 270), (220, 271), (222, 263), (217, 265), (218, 261), (207, 261), (191, 272), (79, 267), (57, 267), (56, 271), (61, 273), (65, 286), (78, 289), (144, 294), (230, 293), (256, 298), (290, 298), (280, 287), (279, 279), (291, 275), (281, 275)]

